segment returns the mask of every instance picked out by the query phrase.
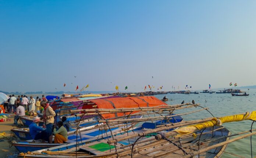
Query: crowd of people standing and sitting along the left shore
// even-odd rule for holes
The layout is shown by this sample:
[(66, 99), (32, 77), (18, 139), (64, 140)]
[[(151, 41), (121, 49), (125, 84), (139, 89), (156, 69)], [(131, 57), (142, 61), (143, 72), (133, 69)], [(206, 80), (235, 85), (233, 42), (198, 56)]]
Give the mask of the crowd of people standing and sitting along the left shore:
[[(47, 99), (43, 95), (42, 98), (21, 95), (18, 98), (15, 95), (11, 95), (4, 103), (4, 109), (6, 113), (14, 113), (14, 125), (18, 126), (18, 120), (20, 117), (25, 116), (26, 111), (42, 113), (43, 117), (38, 116), (33, 118), (33, 123), (29, 125), (29, 133), (34, 140), (42, 140), (42, 142), (53, 143), (64, 143), (67, 141), (67, 133), (70, 131), (69, 122), (67, 117), (63, 116), (61, 121), (58, 121), (54, 125), (54, 118), (56, 117), (55, 111), (47, 103)], [(39, 122), (43, 120), (44, 124), (42, 127), (38, 126)]]

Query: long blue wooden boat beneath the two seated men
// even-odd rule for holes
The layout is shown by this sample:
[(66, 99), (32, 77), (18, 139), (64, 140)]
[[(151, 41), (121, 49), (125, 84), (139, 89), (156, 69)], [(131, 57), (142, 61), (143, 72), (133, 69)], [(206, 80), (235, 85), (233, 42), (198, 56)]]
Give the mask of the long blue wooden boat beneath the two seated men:
[[(138, 117), (138, 116), (136, 116)], [(139, 116), (141, 117), (141, 116)], [(142, 129), (154, 129), (156, 128), (157, 125), (161, 125), (161, 124), (169, 124), (170, 122), (172, 123), (177, 123), (177, 122), (181, 122), (183, 121), (181, 116), (174, 116), (174, 117), (170, 117), (168, 120), (160, 120), (160, 121), (156, 121), (155, 123), (151, 123), (151, 122), (145, 122), (143, 123), (141, 126), (132, 126), (129, 125), (128, 126), (128, 132), (135, 132), (137, 130), (140, 130), (139, 132), (141, 132)], [(124, 126), (126, 126), (124, 124)], [(132, 128), (130, 128), (132, 126)], [(107, 139), (109, 137), (111, 137), (111, 132), (113, 133), (113, 135), (122, 135), (125, 132), (125, 130), (121, 127), (115, 127), (112, 126), (111, 128), (111, 132), (110, 130), (99, 130), (99, 129), (86, 129), (85, 131), (83, 131), (84, 129), (81, 129), (80, 132), (81, 136), (77, 136), (76, 133), (73, 132), (73, 134), (68, 135), (68, 140), (66, 143), (64, 144), (49, 144), (49, 143), (40, 143), (40, 140), (28, 140), (28, 141), (19, 141), (19, 142), (12, 142), (11, 145), (15, 146), (15, 148), (17, 148), (17, 150), (21, 153), (27, 153), (28, 151), (35, 151), (35, 150), (43, 150), (45, 148), (54, 148), (53, 151), (62, 151), (65, 149), (69, 149), (72, 147), (75, 147), (76, 145), (83, 145), (86, 144), (88, 142), (94, 142), (100, 139)], [(172, 129), (170, 129), (172, 130)], [(168, 131), (170, 131), (168, 130)], [(53, 138), (54, 139), (54, 138)]]

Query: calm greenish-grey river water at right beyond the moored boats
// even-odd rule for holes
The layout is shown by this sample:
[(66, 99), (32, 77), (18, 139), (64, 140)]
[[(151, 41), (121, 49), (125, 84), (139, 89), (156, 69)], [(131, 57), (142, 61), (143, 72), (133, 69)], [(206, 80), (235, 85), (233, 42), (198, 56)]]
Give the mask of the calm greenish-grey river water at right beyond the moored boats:
[[(241, 89), (248, 91), (247, 89)], [(245, 113), (246, 111), (256, 110), (256, 90), (250, 89), (248, 92), (249, 96), (231, 96), (231, 94), (209, 94), (209, 93), (199, 93), (199, 94), (167, 94), (166, 97), (169, 99), (167, 104), (180, 104), (182, 100), (185, 103), (192, 102), (200, 103), (203, 107), (209, 107), (209, 111), (214, 115), (214, 117), (222, 117), (226, 115), (234, 115)], [(156, 98), (162, 99), (165, 95), (155, 95)], [(170, 100), (172, 99), (172, 100)], [(206, 101), (207, 102), (206, 102)], [(191, 111), (192, 109), (179, 110), (177, 113), (185, 113)], [(195, 111), (193, 109), (193, 111)], [(203, 110), (198, 113), (192, 113), (189, 115), (182, 116), (185, 120), (198, 120), (200, 118), (211, 117), (211, 115)], [(248, 131), (252, 121), (246, 120), (242, 122), (231, 122), (225, 123), (225, 126), (232, 134)], [(256, 128), (256, 123), (254, 124)], [(231, 137), (232, 139), (232, 137)], [(256, 157), (256, 135), (252, 136), (252, 149), (253, 157)], [(250, 158), (250, 137), (228, 144), (226, 150), (228, 153), (240, 155), (246, 158)], [(222, 158), (234, 158), (236, 156), (224, 153)]]

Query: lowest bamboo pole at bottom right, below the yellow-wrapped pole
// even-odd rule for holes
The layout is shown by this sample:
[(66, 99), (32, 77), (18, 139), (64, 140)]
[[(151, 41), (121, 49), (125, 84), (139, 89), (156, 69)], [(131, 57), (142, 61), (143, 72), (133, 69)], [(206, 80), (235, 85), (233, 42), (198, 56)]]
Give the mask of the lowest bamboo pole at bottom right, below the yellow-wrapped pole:
[(246, 138), (246, 137), (249, 137), (249, 136), (252, 136), (252, 135), (256, 135), (256, 132), (253, 132), (253, 133), (248, 133), (246, 135), (242, 135), (242, 136), (239, 136), (239, 137), (236, 137), (234, 139), (230, 139), (230, 140), (227, 140), (225, 142), (221, 142), (221, 143), (218, 143), (218, 144), (215, 144), (213, 146), (210, 146), (210, 147), (206, 147), (206, 148), (202, 148), (201, 150), (198, 150), (198, 151), (195, 151), (189, 155), (186, 155), (182, 158), (192, 158), (193, 155), (198, 155), (198, 154), (201, 154), (201, 153), (204, 153), (208, 150), (211, 150), (211, 149), (214, 149), (214, 148), (217, 148), (217, 147), (221, 147), (221, 146), (224, 146), (226, 144), (229, 144), (229, 143), (232, 143), (232, 142), (235, 142), (237, 140), (240, 140), (240, 139), (243, 139), (243, 138)]

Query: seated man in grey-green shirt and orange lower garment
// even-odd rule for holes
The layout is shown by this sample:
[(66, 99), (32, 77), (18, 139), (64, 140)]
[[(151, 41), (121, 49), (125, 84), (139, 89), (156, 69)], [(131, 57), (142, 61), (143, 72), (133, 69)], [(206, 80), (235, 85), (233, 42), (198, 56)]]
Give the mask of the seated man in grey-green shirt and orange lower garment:
[(53, 133), (54, 133), (54, 143), (64, 143), (68, 139), (68, 132), (67, 129), (63, 126), (63, 122), (59, 121), (57, 123), (58, 131), (56, 131), (56, 126), (54, 126)]

